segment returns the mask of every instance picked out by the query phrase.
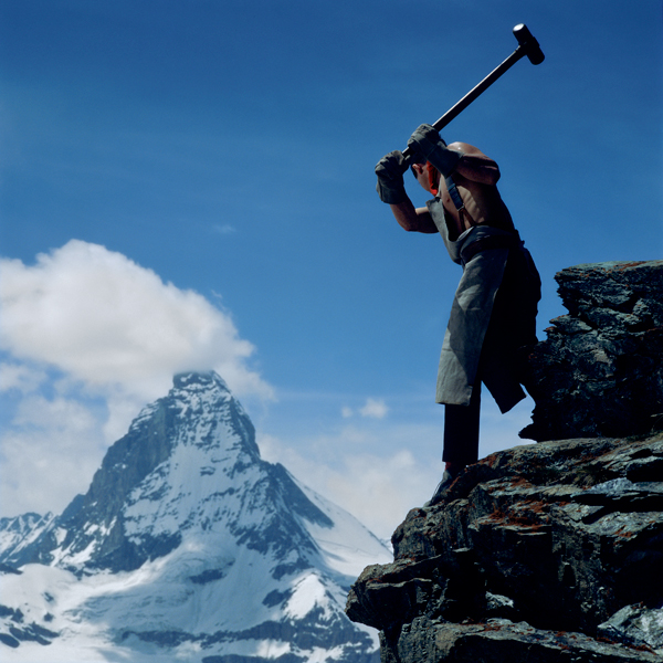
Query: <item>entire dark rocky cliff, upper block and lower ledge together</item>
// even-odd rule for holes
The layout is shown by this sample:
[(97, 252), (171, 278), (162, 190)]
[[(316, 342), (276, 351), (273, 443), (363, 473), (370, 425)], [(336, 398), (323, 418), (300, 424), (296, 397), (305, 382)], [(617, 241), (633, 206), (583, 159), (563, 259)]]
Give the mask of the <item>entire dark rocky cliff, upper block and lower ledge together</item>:
[(557, 275), (569, 315), (530, 357), (529, 432), (548, 441), (412, 509), (394, 561), (349, 592), (385, 663), (662, 660), (662, 277), (663, 262)]

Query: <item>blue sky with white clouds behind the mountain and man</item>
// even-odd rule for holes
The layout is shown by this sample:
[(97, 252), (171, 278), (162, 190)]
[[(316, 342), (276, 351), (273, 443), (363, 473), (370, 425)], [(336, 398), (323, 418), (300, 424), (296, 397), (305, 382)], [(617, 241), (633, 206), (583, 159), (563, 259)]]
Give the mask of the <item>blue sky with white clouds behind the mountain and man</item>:
[[(659, 0), (6, 0), (0, 8), (0, 516), (60, 513), (172, 376), (217, 370), (263, 457), (390, 537), (442, 473), (460, 280), (377, 197), (442, 135), (501, 168), (544, 282), (663, 257)], [(412, 178), (417, 206), (427, 194)], [(534, 403), (486, 393), (480, 454)]]

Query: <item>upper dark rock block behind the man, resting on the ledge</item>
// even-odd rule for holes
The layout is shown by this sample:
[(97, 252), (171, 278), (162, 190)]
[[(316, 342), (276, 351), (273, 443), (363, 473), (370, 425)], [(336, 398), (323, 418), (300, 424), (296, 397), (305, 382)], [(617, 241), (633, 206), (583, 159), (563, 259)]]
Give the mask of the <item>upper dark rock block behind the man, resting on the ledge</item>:
[(663, 429), (663, 261), (577, 265), (555, 276), (569, 314), (529, 355), (533, 424), (564, 440)]

